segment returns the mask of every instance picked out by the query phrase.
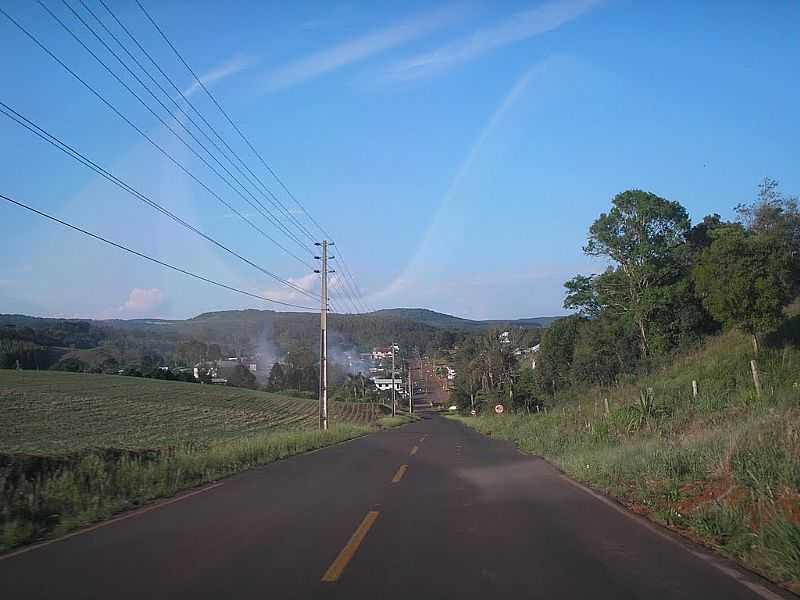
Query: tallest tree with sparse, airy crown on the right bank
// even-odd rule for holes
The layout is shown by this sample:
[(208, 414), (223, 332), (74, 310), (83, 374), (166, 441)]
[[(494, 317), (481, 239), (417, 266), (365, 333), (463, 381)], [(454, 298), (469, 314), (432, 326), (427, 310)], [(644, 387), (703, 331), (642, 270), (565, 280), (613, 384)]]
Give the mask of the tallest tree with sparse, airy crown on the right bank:
[(584, 252), (619, 265), (624, 287), (620, 309), (630, 313), (640, 336), (643, 355), (650, 353), (649, 320), (658, 298), (654, 289), (674, 281), (681, 267), (678, 248), (684, 245), (689, 216), (678, 202), (641, 190), (617, 194), (613, 207), (589, 229)]

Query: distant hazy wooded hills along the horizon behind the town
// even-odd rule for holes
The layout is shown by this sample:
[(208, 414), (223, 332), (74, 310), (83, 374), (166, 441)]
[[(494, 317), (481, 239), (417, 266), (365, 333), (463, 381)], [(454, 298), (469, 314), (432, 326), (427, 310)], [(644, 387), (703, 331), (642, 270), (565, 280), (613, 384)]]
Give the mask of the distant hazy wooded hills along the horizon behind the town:
[[(367, 314), (331, 314), (328, 342), (333, 360), (392, 341), (423, 354), (447, 352), (466, 337), (488, 329), (535, 332), (557, 317), (472, 321), (427, 309), (387, 309)], [(524, 335), (526, 341), (538, 338)], [(528, 339), (530, 338), (530, 339)], [(214, 345), (224, 356), (256, 357), (269, 367), (291, 352), (316, 356), (319, 316), (272, 310), (208, 312), (191, 319), (54, 319), (0, 315), (0, 368), (116, 373), (122, 368), (190, 366)], [(533, 340), (535, 343), (535, 340)], [(311, 359), (313, 360), (313, 358)]]

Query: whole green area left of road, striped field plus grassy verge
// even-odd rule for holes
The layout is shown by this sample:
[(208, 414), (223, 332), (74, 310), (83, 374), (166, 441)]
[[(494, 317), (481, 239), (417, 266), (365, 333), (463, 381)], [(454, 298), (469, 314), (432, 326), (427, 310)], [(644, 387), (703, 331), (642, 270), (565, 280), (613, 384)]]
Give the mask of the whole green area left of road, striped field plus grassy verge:
[(408, 422), (369, 404), (138, 377), (0, 370), (0, 551)]

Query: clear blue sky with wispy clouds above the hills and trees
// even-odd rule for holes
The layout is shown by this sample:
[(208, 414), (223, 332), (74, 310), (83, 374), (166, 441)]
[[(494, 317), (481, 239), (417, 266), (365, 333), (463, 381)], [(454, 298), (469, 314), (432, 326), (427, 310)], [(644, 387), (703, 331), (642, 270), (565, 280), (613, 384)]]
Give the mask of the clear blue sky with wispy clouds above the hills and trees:
[[(84, 1), (122, 35), (98, 0)], [(106, 1), (281, 194), (137, 6)], [(793, 1), (142, 1), (335, 236), (372, 307), (470, 318), (561, 313), (562, 283), (602, 268), (581, 246), (615, 193), (641, 188), (678, 200), (694, 221), (731, 217), (765, 176), (800, 193)], [(79, 0), (68, 2), (96, 26)], [(160, 110), (63, 3), (46, 4)], [(38, 4), (3, 7), (226, 201), (300, 251)], [(2, 15), (0, 52), (0, 100), (240, 254), (316, 289), (306, 266), (183, 175)], [(227, 284), (308, 302), (2, 115), (0, 139), (0, 193)], [(277, 308), (7, 203), (0, 252), (0, 312), (184, 318)]]

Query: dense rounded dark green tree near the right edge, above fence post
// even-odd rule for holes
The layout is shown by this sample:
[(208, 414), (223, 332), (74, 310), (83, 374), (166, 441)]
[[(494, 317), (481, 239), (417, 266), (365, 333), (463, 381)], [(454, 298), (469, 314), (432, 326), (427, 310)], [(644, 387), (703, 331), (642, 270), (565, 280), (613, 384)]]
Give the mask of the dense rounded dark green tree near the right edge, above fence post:
[(695, 289), (708, 312), (749, 333), (758, 352), (759, 334), (781, 322), (792, 299), (791, 256), (775, 237), (738, 225), (718, 228), (712, 237), (692, 268)]

